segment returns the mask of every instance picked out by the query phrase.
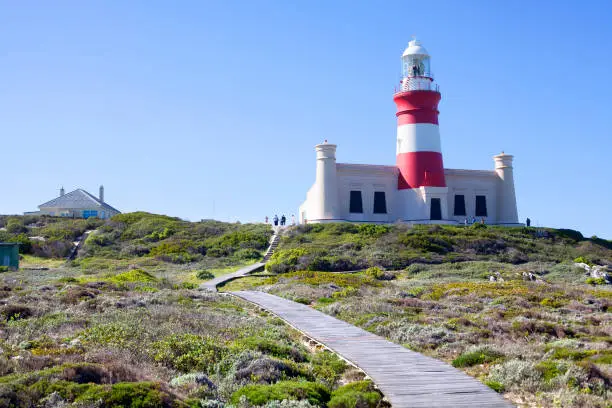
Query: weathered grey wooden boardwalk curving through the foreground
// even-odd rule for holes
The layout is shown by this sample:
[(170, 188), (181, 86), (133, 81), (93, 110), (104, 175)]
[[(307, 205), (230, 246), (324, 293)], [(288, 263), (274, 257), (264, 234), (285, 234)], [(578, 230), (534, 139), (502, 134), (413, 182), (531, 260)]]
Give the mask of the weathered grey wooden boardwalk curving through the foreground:
[(408, 350), (308, 306), (264, 292), (232, 294), (272, 312), (361, 368), (393, 408), (513, 406), (478, 380), (442, 361)]

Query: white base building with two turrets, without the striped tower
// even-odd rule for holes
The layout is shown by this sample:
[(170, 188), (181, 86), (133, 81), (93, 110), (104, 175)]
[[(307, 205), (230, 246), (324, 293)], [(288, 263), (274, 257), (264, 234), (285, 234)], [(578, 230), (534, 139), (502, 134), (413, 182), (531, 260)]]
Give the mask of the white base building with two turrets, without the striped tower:
[(333, 144), (316, 151), (316, 181), (299, 208), (300, 223), (519, 225), (510, 155), (495, 156), (494, 170), (444, 169), (446, 187), (399, 190), (396, 166), (336, 163)]

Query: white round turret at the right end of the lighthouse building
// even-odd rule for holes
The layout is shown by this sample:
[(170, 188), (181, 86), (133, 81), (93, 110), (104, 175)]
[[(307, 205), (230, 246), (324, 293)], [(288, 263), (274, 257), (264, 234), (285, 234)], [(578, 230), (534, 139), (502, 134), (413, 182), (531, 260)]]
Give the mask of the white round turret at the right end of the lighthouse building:
[(514, 191), (514, 172), (512, 169), (513, 156), (501, 152), (493, 156), (495, 160), (495, 173), (497, 173), (497, 223), (518, 224), (518, 211), (516, 209), (516, 193)]

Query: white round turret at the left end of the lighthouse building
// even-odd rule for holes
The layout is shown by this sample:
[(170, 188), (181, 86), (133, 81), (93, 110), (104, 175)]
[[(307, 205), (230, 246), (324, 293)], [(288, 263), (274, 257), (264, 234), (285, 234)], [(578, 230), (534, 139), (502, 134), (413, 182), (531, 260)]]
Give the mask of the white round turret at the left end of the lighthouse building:
[(317, 174), (314, 186), (314, 208), (309, 220), (337, 220), (339, 218), (338, 183), (336, 174), (336, 145), (327, 143), (315, 146)]

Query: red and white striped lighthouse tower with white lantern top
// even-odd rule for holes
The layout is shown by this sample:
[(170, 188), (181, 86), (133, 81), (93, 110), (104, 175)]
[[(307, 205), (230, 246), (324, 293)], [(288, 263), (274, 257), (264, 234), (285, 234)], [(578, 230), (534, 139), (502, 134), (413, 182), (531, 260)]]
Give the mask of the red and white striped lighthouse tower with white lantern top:
[(402, 55), (397, 105), (398, 189), (446, 187), (438, 128), (438, 86), (434, 84), (427, 50), (412, 40)]

